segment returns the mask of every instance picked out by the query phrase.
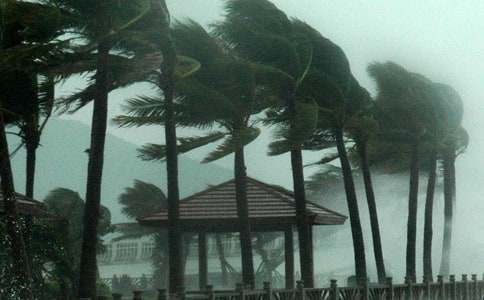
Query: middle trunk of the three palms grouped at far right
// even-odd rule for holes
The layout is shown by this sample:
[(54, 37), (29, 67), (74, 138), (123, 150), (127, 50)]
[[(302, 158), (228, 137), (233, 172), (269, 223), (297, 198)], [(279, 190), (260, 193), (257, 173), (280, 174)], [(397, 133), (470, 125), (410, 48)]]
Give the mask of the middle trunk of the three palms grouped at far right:
[(433, 150), (430, 156), (429, 176), (427, 181), (427, 196), (425, 198), (425, 222), (424, 222), (424, 248), (423, 266), (424, 278), (433, 281), (432, 272), (432, 217), (434, 210), (435, 180), (437, 177), (437, 151)]

